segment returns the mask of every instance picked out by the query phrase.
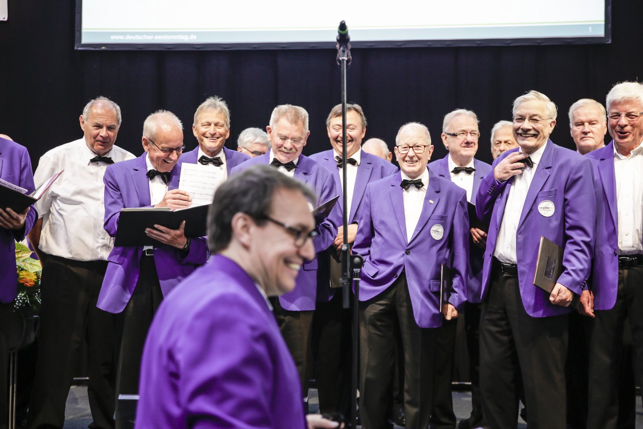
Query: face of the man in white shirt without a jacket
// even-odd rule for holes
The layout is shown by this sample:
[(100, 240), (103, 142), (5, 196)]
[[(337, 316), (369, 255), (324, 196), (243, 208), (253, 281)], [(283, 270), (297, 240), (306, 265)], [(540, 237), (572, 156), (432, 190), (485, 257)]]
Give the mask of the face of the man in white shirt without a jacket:
[(89, 109), (87, 121), (82, 114), (79, 120), (80, 128), (85, 134), (85, 143), (92, 152), (103, 156), (111, 151), (120, 128), (118, 116), (111, 104), (95, 102)]

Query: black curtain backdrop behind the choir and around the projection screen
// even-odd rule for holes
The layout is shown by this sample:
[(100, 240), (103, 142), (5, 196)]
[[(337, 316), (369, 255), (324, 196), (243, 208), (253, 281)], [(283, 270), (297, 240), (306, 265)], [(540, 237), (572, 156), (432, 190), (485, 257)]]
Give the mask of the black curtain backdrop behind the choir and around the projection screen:
[[(48, 149), (82, 136), (78, 116), (98, 95), (120, 104), (116, 144), (134, 154), (142, 151), (143, 120), (157, 109), (181, 118), (185, 143), (194, 148), (192, 117), (211, 95), (230, 106), (231, 149), (240, 131), (265, 128), (283, 103), (310, 114), (304, 154), (330, 147), (325, 118), (340, 102), (335, 50), (77, 51), (74, 0), (9, 0), (8, 8), (8, 21), (0, 22), (0, 132), (28, 147), (34, 169)], [(642, 15), (640, 0), (613, 1), (611, 44), (353, 49), (348, 99), (367, 114), (367, 138), (383, 138), (391, 148), (403, 123), (426, 124), (434, 159), (446, 154), (444, 114), (471, 109), (482, 132), (477, 158), (490, 162), (491, 127), (511, 118), (516, 96), (537, 89), (559, 107), (552, 140), (573, 148), (568, 107), (583, 97), (604, 102), (613, 84), (643, 74)]]

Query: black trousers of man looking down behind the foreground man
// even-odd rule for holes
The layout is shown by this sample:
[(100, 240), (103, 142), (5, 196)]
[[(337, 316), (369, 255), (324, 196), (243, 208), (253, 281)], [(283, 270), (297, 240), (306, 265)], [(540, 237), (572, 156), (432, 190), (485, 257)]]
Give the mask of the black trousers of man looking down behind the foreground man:
[(293, 356), (299, 378), (302, 381), (302, 394), (308, 398), (308, 385), (311, 376), (311, 331), (313, 311), (289, 311), (279, 304), (279, 298), (270, 298), (279, 329), (285, 344)]

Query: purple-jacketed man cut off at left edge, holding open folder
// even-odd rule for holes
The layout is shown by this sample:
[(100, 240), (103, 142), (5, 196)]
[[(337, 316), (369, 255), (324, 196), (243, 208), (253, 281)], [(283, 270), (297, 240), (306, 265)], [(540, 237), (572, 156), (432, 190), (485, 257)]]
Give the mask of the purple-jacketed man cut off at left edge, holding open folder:
[[(33, 191), (32, 161), (26, 147), (0, 138), (0, 179)], [(17, 274), (15, 269), (15, 244), (22, 241), (32, 229), (37, 218), (33, 207), (16, 213), (0, 207), (0, 327), (8, 325), (13, 316)], [(0, 426), (8, 421), (8, 359), (5, 335), (0, 330)]]

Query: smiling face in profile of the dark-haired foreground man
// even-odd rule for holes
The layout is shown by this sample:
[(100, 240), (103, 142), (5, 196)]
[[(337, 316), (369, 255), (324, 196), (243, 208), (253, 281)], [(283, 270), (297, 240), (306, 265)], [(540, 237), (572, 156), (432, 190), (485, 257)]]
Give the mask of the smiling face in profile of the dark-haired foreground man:
[[(308, 201), (299, 190), (275, 190), (269, 217), (304, 232), (315, 228)], [(311, 239), (298, 248), (290, 232), (270, 221), (261, 226), (255, 225), (250, 242), (249, 251), (254, 262), (249, 274), (269, 296), (292, 291), (303, 262), (315, 257)]]

